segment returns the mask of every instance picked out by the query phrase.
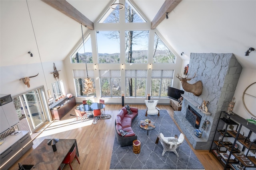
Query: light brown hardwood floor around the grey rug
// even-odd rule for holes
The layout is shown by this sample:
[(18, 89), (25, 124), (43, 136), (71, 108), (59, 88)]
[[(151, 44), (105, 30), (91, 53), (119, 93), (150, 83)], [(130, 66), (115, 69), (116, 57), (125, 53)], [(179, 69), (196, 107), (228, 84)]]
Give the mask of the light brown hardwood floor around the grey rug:
[[(130, 107), (138, 107), (138, 109), (146, 108), (145, 105), (130, 105)], [(71, 109), (71, 111), (61, 119), (61, 121), (65, 119), (74, 119), (74, 116), (70, 115), (75, 115), (74, 108)], [(28, 156), (28, 154), (42, 142), (42, 140), (51, 138), (76, 139), (80, 154), (78, 157), (80, 164), (78, 164), (77, 160), (74, 159), (72, 162), (73, 169), (109, 170), (112, 148), (115, 139), (114, 121), (120, 108), (121, 105), (106, 105), (105, 113), (112, 115), (112, 118), (98, 120), (96, 125), (90, 124), (76, 129), (66, 129), (65, 131), (58, 130), (50, 135), (36, 138), (33, 141), (33, 148), (28, 150), (28, 152), (26, 152), (26, 154), (10, 168), (10, 170), (17, 170), (18, 162), (22, 162), (22, 160), (25, 159), (26, 156)], [(158, 105), (158, 108), (166, 109), (173, 119), (172, 107), (169, 105)], [(180, 147), (182, 147), (182, 145)], [(194, 150), (194, 152), (206, 170), (223, 169), (220, 162), (218, 162), (208, 150)], [(63, 170), (70, 170), (69, 165), (65, 165)]]

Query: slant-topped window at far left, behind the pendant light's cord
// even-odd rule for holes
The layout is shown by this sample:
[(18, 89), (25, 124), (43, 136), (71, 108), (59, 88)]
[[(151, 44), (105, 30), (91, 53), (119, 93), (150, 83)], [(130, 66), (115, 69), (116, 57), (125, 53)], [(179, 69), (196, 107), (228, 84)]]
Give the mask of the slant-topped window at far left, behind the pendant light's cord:
[(85, 60), (86, 63), (92, 63), (92, 43), (90, 34), (84, 39), (84, 45), (82, 42), (73, 55), (71, 55), (72, 63), (85, 63)]

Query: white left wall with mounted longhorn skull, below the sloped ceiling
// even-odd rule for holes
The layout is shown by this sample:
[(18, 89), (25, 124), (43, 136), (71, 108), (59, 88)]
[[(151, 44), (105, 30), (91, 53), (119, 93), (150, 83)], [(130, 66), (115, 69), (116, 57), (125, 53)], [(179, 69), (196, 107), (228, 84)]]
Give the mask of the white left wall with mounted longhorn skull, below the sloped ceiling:
[[(68, 86), (68, 80), (66, 76), (66, 69), (63, 61), (53, 61), (48, 63), (34, 63), (34, 64), (23, 64), (23, 65), (15, 65), (15, 66), (1, 66), (0, 67), (0, 93), (1, 94), (11, 94), (11, 96), (15, 96), (21, 93), (24, 93), (28, 90), (38, 88), (40, 86), (44, 86), (45, 94), (47, 99), (49, 99), (47, 90), (51, 90), (51, 94), (53, 96), (52, 83), (56, 82), (53, 77), (53, 63), (57, 70), (61, 70), (60, 80), (64, 83), (65, 93), (68, 94), (70, 89)], [(30, 78), (30, 88), (28, 88), (20, 78), (24, 78), (26, 76), (34, 76), (37, 73), (38, 76)], [(44, 78), (45, 76), (45, 78)]]

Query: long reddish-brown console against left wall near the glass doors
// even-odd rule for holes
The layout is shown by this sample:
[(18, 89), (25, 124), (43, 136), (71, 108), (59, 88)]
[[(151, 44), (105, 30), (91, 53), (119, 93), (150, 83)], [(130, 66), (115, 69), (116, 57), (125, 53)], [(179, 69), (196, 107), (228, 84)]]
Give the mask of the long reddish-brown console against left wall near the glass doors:
[[(58, 109), (53, 109), (57, 106), (60, 106)], [(76, 98), (66, 98), (63, 100), (60, 104), (57, 106), (54, 106), (51, 111), (52, 119), (54, 120), (60, 120), (68, 111), (70, 111), (74, 106), (76, 106)]]

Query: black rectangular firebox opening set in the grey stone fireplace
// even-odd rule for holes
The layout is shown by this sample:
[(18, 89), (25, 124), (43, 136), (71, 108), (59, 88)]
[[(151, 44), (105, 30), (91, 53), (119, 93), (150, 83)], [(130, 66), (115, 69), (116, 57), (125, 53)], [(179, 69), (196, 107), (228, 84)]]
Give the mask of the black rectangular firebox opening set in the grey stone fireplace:
[(188, 105), (186, 111), (186, 119), (196, 129), (199, 129), (202, 116)]

